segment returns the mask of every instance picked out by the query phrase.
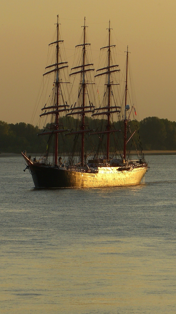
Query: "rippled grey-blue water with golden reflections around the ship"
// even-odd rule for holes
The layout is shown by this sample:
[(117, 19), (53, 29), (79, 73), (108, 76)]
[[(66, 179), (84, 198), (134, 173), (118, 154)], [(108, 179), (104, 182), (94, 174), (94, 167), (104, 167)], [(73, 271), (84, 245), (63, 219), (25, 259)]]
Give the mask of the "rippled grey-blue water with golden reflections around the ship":
[(0, 157), (2, 314), (176, 313), (176, 156), (138, 186), (36, 190)]

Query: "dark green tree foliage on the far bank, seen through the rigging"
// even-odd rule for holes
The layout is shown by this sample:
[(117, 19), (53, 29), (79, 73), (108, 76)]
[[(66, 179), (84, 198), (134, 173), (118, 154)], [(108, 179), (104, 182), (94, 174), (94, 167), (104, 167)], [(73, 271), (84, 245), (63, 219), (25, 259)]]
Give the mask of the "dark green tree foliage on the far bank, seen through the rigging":
[[(60, 128), (64, 126), (64, 128), (70, 129), (70, 132), (74, 132), (75, 130), (80, 130), (80, 121), (77, 121), (73, 117), (62, 117), (59, 120)], [(100, 130), (100, 128), (105, 129), (106, 120), (85, 119), (86, 128), (90, 128), (90, 130)], [(133, 138), (135, 141), (142, 142), (142, 148), (145, 150), (176, 150), (176, 122), (169, 121), (168, 119), (159, 119), (158, 117), (147, 117), (140, 122), (131, 121), (130, 129), (127, 128), (127, 137), (129, 138), (131, 134), (139, 129), (138, 132), (134, 134)], [(122, 130), (122, 132), (116, 132), (116, 142), (119, 147), (123, 145), (123, 122), (114, 122), (115, 129)], [(46, 128), (46, 131), (47, 128)], [(24, 122), (16, 123), (16, 124), (8, 124), (7, 122), (0, 121), (0, 152), (9, 152), (9, 153), (20, 153), (24, 149), (30, 153), (42, 153), (46, 151), (47, 136), (38, 136), (37, 134), (43, 132), (43, 130), (39, 130), (39, 127), (34, 127), (31, 124), (26, 124)], [(88, 136), (88, 134), (87, 134)], [(76, 138), (76, 136), (75, 136)], [(95, 149), (98, 148), (99, 144), (99, 136), (91, 137), (93, 146)], [(102, 137), (102, 142), (106, 142), (105, 137)], [(65, 136), (64, 133), (60, 135), (59, 141), (59, 151), (71, 151), (74, 143), (73, 136)], [(80, 141), (78, 141), (78, 145), (80, 145)], [(128, 143), (129, 149), (133, 149), (132, 140)], [(131, 147), (130, 147), (131, 146)], [(111, 151), (115, 148), (111, 147)], [(90, 144), (85, 143), (85, 151), (91, 150), (92, 146)]]

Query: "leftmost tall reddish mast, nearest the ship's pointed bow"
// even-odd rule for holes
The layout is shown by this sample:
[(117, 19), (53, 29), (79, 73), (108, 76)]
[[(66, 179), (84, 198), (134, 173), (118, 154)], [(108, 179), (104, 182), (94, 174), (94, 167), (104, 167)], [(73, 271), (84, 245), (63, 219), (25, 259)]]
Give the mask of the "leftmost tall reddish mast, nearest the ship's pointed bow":
[[(57, 46), (56, 46), (56, 111), (59, 109), (59, 15), (57, 15)], [(55, 126), (54, 130), (59, 129), (59, 112), (55, 114)], [(54, 164), (57, 165), (57, 154), (58, 154), (58, 132), (54, 134)]]

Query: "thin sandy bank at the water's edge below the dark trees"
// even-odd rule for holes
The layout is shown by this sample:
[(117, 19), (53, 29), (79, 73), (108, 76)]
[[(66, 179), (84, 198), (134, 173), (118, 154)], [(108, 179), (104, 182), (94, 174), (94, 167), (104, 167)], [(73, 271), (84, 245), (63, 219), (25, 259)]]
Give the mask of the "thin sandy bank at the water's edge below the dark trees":
[[(176, 150), (144, 150), (144, 155), (176, 155)], [(131, 152), (131, 154), (136, 154), (136, 152)], [(40, 153), (27, 153), (27, 155), (31, 155), (32, 157), (35, 155), (40, 155)], [(15, 153), (0, 153), (0, 157), (20, 157), (21, 154)], [(21, 156), (22, 157), (22, 156)]]

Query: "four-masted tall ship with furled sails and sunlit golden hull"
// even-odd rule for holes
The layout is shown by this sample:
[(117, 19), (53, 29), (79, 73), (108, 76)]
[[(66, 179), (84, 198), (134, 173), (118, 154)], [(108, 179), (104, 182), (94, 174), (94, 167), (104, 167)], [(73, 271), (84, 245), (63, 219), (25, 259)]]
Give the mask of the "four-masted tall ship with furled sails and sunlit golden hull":
[[(59, 25), (57, 16), (56, 38), (49, 44), (54, 47), (54, 57), (44, 73), (50, 80), (54, 75), (52, 93), (40, 114), (44, 127), (38, 135), (47, 138), (46, 152), (37, 160), (24, 151), (26, 169), (35, 187), (41, 188), (137, 185), (148, 164), (142, 152), (137, 121), (132, 119), (136, 110), (128, 89), (128, 47), (122, 93), (110, 21), (107, 42), (101, 48), (104, 64), (95, 72), (84, 19), (81, 41), (75, 47), (77, 63), (71, 68), (73, 82), (68, 96), (64, 87), (70, 84), (65, 75), (68, 62), (61, 53), (63, 40)], [(98, 89), (104, 86), (102, 100), (94, 77), (99, 80)], [(74, 95), (77, 98), (72, 101)]]

